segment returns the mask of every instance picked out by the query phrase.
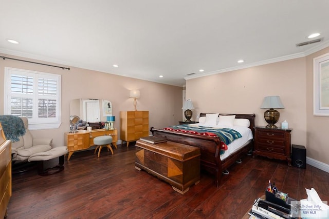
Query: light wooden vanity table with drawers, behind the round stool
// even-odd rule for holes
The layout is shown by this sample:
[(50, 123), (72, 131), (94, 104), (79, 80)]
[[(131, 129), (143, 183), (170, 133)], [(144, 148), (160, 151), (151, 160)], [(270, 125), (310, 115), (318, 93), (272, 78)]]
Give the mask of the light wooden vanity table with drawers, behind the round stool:
[(102, 135), (111, 135), (112, 144), (117, 148), (118, 130), (117, 129), (95, 129), (91, 132), (79, 130), (75, 133), (65, 132), (65, 144), (68, 150), (67, 161), (70, 160), (75, 151), (85, 150), (94, 146), (94, 138)]

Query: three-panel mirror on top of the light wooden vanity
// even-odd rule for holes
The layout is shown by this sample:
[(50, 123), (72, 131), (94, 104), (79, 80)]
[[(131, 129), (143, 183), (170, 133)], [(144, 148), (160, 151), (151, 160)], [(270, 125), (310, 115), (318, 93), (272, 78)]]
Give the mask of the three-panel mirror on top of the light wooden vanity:
[(78, 129), (85, 129), (88, 123), (106, 122), (112, 115), (112, 103), (105, 99), (80, 98), (70, 102), (70, 115), (80, 117)]

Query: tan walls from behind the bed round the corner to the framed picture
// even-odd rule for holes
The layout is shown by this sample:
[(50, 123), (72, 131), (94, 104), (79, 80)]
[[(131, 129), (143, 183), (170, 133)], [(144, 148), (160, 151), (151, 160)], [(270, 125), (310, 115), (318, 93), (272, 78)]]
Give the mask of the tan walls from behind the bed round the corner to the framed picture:
[(329, 117), (313, 115), (313, 58), (329, 48), (303, 58), (190, 79), (186, 96), (200, 112), (255, 113), (256, 125), (264, 126), (264, 96), (279, 95), (280, 123), (287, 120), (291, 143), (304, 145), (307, 157), (329, 164)]

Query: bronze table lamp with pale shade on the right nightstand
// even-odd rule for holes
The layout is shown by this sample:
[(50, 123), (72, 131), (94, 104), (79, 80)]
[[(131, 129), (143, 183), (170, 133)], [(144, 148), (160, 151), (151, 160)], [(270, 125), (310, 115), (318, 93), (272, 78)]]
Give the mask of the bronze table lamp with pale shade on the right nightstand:
[(264, 112), (265, 121), (268, 123), (266, 128), (277, 129), (275, 125), (280, 118), (280, 112), (275, 109), (284, 109), (280, 96), (265, 96), (260, 109), (268, 109)]

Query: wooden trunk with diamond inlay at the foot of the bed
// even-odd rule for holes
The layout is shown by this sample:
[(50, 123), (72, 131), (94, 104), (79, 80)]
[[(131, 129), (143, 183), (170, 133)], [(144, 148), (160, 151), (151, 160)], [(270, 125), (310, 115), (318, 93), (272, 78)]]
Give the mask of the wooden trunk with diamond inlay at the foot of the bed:
[(169, 183), (181, 194), (200, 180), (200, 149), (176, 142), (136, 142), (138, 170), (145, 170)]

